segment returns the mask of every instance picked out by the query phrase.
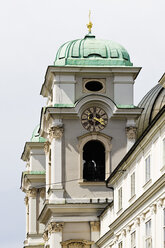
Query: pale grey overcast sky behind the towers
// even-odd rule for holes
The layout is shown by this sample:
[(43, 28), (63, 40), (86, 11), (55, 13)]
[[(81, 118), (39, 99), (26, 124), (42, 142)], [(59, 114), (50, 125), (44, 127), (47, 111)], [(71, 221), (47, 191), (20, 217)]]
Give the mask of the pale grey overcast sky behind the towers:
[(93, 34), (122, 44), (134, 66), (135, 104), (165, 71), (164, 0), (4, 0), (0, 2), (0, 247), (22, 248), (24, 194), (19, 190), (26, 141), (39, 123), (46, 68), (64, 42)]

